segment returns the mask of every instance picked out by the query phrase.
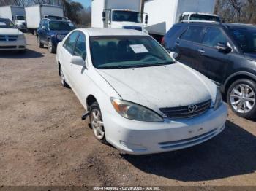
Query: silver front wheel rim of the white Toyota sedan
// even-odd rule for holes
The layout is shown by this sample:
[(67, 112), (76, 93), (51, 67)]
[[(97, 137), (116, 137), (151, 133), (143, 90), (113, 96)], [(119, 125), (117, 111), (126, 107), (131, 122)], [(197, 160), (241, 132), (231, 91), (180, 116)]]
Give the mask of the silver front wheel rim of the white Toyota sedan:
[(105, 132), (103, 128), (102, 116), (97, 109), (93, 109), (91, 112), (91, 127), (94, 130), (94, 136), (97, 139), (102, 140)]

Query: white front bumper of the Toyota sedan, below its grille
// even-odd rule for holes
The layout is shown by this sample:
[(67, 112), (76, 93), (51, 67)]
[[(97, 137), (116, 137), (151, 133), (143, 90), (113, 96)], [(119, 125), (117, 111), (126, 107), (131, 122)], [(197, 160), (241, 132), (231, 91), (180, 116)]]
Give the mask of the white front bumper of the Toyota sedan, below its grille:
[(104, 118), (110, 144), (128, 154), (146, 155), (192, 147), (217, 136), (225, 129), (227, 105), (199, 117), (165, 122), (137, 122), (121, 116)]

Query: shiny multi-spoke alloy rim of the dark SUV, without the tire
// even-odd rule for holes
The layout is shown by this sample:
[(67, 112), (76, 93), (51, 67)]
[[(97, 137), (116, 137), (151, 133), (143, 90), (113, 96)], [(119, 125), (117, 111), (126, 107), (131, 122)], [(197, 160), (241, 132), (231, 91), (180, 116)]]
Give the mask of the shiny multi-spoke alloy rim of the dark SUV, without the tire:
[(231, 91), (230, 103), (236, 112), (248, 113), (255, 106), (255, 92), (249, 85), (237, 85)]

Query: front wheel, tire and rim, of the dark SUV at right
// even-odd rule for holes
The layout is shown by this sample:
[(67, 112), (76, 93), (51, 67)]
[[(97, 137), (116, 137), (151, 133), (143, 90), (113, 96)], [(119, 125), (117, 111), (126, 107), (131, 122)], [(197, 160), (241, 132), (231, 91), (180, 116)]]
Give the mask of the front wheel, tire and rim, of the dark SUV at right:
[(238, 79), (227, 91), (227, 103), (238, 116), (249, 120), (256, 118), (256, 82)]

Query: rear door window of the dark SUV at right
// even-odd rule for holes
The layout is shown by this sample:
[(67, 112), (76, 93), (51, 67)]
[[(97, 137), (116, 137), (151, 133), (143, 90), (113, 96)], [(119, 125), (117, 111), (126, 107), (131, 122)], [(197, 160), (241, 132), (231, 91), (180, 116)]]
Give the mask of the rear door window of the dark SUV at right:
[(189, 26), (187, 31), (185, 31), (184, 34), (181, 35), (181, 39), (199, 43), (202, 31), (202, 26)]

